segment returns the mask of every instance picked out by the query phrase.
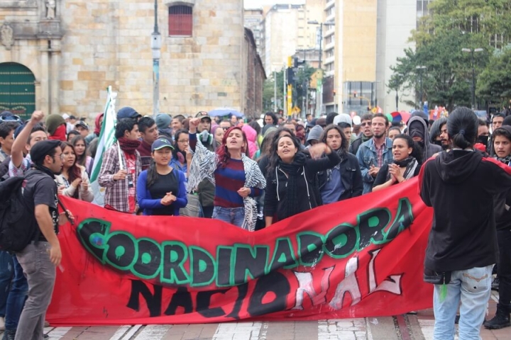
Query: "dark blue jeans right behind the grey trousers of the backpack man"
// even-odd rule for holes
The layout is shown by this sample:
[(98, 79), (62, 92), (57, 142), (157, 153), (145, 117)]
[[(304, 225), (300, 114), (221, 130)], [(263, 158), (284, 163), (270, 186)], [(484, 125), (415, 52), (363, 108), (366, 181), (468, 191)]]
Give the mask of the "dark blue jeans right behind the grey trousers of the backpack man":
[(18, 322), (23, 311), (23, 306), (28, 294), (28, 282), (23, 275), (23, 268), (21, 268), (16, 256), (12, 256), (14, 267), (14, 278), (11, 285), (11, 291), (7, 297), (6, 305), (6, 329), (18, 328)]

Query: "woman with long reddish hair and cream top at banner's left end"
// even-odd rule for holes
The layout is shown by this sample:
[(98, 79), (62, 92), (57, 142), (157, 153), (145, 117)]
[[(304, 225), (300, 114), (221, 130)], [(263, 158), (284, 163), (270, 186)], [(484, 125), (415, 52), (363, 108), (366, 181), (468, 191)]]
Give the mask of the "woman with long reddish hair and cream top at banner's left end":
[(62, 172), (55, 176), (59, 194), (92, 202), (94, 193), (89, 183), (89, 176), (85, 167), (77, 164), (75, 147), (68, 142), (60, 144), (62, 148)]

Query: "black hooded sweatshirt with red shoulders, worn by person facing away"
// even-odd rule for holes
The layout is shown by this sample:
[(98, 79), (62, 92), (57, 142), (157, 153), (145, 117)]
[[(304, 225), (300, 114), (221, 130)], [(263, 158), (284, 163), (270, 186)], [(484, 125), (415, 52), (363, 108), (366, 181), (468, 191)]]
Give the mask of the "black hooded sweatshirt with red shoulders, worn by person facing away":
[(461, 149), (422, 166), (420, 196), (434, 209), (424, 268), (461, 271), (497, 261), (493, 198), (511, 188), (510, 175), (509, 166)]

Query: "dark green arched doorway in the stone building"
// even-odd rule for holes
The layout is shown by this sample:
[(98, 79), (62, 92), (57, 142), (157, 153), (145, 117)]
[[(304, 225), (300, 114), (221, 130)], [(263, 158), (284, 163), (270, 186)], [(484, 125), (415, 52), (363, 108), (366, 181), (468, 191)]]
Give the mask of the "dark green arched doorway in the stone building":
[(23, 119), (35, 110), (35, 77), (16, 62), (0, 63), (0, 112), (9, 110)]

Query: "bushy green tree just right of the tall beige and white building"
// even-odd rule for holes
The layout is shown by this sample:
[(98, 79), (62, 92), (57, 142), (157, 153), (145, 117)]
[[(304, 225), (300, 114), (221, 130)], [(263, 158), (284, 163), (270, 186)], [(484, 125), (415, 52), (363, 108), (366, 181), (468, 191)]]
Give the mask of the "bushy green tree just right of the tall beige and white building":
[[(416, 108), (421, 101), (421, 87), (430, 107), (445, 106), (451, 111), (454, 106), (471, 106), (472, 60), (471, 55), (461, 49), (478, 47), (480, 39), (480, 36), (461, 34), (456, 30), (436, 32), (416, 50), (407, 49), (405, 57), (397, 58), (397, 64), (390, 67), (394, 72), (390, 89), (414, 89), (416, 103), (408, 104)], [(480, 72), (488, 60), (488, 51), (477, 57), (475, 67)]]

